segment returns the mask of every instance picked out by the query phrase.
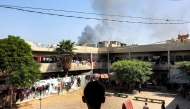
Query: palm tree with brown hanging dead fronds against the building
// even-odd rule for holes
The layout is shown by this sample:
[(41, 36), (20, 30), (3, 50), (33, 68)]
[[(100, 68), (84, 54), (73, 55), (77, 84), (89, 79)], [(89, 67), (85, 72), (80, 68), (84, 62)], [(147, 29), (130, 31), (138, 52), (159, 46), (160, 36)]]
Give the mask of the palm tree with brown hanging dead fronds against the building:
[(68, 76), (68, 72), (71, 69), (71, 57), (76, 53), (75, 43), (71, 40), (62, 40), (57, 44), (58, 48), (56, 49), (59, 54), (61, 54), (60, 61), (62, 63), (62, 68), (65, 73), (65, 76)]

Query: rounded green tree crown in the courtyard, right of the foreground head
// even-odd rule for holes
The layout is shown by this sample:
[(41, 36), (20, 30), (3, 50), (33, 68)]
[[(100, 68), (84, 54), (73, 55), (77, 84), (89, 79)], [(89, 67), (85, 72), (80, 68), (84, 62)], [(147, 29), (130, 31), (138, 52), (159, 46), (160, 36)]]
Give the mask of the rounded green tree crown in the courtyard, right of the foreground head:
[(149, 79), (151, 63), (139, 60), (121, 60), (111, 65), (110, 71), (115, 72), (119, 80), (126, 82), (141, 82)]

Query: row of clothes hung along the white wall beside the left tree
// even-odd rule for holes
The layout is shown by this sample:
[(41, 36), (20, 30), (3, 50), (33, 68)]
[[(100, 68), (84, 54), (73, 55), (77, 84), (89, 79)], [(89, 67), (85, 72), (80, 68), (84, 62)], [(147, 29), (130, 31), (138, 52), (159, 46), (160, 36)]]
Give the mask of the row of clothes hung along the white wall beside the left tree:
[[(31, 87), (13, 87), (12, 86), (6, 86), (3, 90), (0, 91), (0, 105), (9, 105), (10, 99), (12, 96), (12, 102), (13, 104), (16, 103), (18, 100), (22, 101), (24, 99), (33, 99), (43, 96), (48, 96), (51, 93), (60, 93), (61, 91), (65, 90), (65, 87), (68, 86), (69, 89), (71, 89), (72, 86), (75, 85), (75, 87), (81, 86), (81, 78), (78, 76), (75, 77), (69, 77), (69, 80), (60, 81), (60, 82), (49, 82), (49, 83), (43, 83), (43, 84), (37, 84)], [(51, 79), (52, 81), (54, 79)], [(44, 80), (45, 81), (45, 80)], [(43, 82), (44, 82), (43, 81)], [(57, 81), (57, 79), (55, 79)], [(58, 83), (58, 84), (57, 84)], [(11, 95), (11, 92), (12, 95)]]

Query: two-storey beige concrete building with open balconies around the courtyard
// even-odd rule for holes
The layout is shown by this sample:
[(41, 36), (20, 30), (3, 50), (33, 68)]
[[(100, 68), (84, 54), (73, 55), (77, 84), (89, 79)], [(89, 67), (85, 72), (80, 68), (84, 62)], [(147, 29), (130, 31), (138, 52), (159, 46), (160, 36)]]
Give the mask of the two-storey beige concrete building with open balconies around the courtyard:
[[(171, 67), (180, 61), (190, 61), (190, 39), (187, 35), (178, 35), (177, 40), (167, 40), (164, 44), (126, 46), (117, 41), (104, 41), (98, 44), (76, 46), (77, 55), (72, 58), (69, 75), (93, 71), (94, 73), (109, 73), (114, 61), (121, 59), (138, 59), (152, 63), (154, 76), (165, 78)], [(40, 44), (28, 42), (34, 56), (41, 57), (41, 79), (64, 76), (56, 52), (56, 44)], [(44, 60), (45, 59), (45, 60)], [(92, 60), (90, 63), (89, 60)], [(4, 81), (8, 75), (1, 75)]]

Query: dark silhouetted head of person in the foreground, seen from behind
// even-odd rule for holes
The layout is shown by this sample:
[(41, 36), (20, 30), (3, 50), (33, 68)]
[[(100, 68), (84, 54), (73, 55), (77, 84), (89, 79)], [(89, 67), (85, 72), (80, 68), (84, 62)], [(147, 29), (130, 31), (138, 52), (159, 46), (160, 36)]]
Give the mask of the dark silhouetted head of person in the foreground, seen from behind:
[(83, 94), (82, 101), (87, 104), (88, 109), (100, 109), (105, 102), (105, 89), (98, 81), (87, 83)]

